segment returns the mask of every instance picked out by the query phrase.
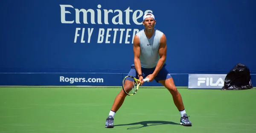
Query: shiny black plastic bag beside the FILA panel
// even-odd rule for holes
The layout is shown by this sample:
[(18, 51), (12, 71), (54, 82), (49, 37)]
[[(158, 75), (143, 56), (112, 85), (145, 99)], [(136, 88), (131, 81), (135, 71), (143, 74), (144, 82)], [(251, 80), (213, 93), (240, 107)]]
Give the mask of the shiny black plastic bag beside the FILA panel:
[(246, 90), (253, 88), (250, 69), (243, 64), (236, 64), (227, 74), (221, 90)]

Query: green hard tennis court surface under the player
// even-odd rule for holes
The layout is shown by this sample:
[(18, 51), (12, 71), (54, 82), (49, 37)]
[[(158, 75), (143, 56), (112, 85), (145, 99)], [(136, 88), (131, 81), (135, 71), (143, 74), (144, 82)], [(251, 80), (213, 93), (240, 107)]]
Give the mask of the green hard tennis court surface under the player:
[(192, 127), (164, 88), (140, 88), (105, 119), (120, 88), (0, 87), (0, 133), (252, 133), (256, 90), (179, 88)]

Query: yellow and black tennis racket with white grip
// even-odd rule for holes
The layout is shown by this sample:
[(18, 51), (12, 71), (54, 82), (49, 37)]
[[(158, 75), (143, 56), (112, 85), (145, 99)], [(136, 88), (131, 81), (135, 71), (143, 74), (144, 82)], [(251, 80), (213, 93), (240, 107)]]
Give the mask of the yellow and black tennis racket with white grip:
[[(148, 82), (148, 78), (143, 79), (144, 82)], [(122, 89), (127, 95), (134, 95), (137, 93), (140, 87), (140, 81), (133, 76), (126, 76), (122, 80)]]

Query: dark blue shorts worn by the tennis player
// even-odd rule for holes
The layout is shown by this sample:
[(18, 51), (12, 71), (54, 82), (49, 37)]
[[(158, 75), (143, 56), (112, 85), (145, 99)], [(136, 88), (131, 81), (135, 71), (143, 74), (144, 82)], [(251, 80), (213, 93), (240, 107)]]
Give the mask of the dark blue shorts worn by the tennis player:
[[(167, 71), (165, 68), (166, 64), (163, 65), (162, 69), (158, 72), (157, 76), (154, 78), (157, 83), (161, 80), (166, 80), (168, 78), (172, 78), (171, 74)], [(148, 75), (152, 74), (154, 72), (155, 68), (141, 68), (141, 72), (143, 75), (143, 78), (146, 78)], [(128, 73), (128, 76), (133, 76), (138, 79), (138, 73), (135, 69), (134, 64), (131, 65), (131, 70)]]

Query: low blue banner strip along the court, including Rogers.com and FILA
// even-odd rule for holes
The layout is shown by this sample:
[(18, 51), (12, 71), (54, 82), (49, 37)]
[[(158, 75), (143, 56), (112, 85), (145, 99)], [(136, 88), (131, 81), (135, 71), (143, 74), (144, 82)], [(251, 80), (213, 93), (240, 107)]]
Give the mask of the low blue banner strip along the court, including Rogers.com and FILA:
[[(121, 86), (127, 73), (0, 73), (0, 86)], [(226, 74), (171, 74), (177, 87), (220, 89)], [(252, 84), (256, 75), (251, 74)], [(254, 85), (254, 84), (253, 84)], [(143, 86), (162, 86), (152, 81)]]

